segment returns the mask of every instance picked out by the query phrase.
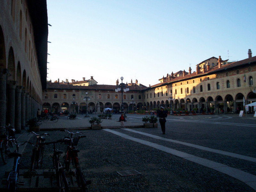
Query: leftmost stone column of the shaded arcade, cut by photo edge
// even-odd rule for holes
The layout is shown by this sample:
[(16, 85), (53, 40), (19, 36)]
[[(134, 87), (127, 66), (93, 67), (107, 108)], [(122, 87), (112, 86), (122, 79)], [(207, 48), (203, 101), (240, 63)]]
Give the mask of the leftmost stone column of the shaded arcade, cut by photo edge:
[(6, 118), (6, 80), (7, 69), (0, 68), (0, 126), (5, 126)]

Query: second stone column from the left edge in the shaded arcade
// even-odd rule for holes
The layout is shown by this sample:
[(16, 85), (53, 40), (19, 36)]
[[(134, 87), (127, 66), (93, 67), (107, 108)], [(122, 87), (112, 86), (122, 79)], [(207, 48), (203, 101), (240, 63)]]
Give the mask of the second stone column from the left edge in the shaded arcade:
[(7, 112), (6, 112), (6, 124), (11, 124), (15, 126), (14, 119), (15, 119), (15, 87), (16, 81), (7, 81)]

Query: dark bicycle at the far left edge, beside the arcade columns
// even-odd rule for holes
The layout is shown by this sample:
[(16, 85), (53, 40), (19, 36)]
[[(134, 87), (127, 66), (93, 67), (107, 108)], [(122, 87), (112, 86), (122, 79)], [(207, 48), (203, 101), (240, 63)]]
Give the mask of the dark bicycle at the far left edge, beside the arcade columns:
[(15, 129), (9, 124), (5, 127), (2, 126), (1, 132), (3, 133), (0, 137), (1, 157), (4, 164), (7, 164), (8, 155), (15, 150), (12, 141), (9, 141), (11, 138), (15, 139)]

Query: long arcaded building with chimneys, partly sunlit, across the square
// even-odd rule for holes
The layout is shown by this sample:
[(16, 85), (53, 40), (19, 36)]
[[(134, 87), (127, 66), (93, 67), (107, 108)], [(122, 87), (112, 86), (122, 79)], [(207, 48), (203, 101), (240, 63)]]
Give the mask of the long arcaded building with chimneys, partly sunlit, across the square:
[[(160, 83), (148, 87), (135, 83), (129, 83), (128, 92), (123, 94), (124, 111), (151, 110), (164, 106), (172, 109), (193, 108), (205, 109), (209, 112), (214, 107), (215, 113), (235, 112), (236, 108), (243, 109), (245, 104), (256, 101), (255, 78), (256, 57), (248, 50), (248, 58), (237, 62), (228, 62), (221, 57), (211, 57), (196, 65), (196, 71), (188, 72), (180, 70), (167, 74), (159, 79)], [(52, 112), (64, 110), (76, 112), (86, 106), (88, 110), (100, 113), (103, 108), (121, 109), (121, 92), (115, 92), (116, 85), (88, 85), (74, 86), (72, 83), (47, 83), (47, 89), (43, 93), (43, 108)], [(86, 94), (87, 93), (87, 94)], [(253, 112), (253, 108), (250, 108)]]

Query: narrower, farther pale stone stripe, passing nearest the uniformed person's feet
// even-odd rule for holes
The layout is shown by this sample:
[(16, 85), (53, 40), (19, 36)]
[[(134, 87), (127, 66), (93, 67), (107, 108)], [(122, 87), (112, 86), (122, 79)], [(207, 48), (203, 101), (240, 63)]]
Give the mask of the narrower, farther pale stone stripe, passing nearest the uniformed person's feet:
[(193, 148), (197, 148), (197, 149), (202, 149), (202, 150), (205, 150), (205, 151), (210, 151), (210, 152), (213, 152), (213, 153), (218, 153), (218, 154), (221, 154), (221, 155), (226, 155), (226, 156), (236, 157), (238, 159), (243, 159), (243, 160), (247, 160), (247, 161), (256, 162), (256, 158), (254, 158), (254, 157), (239, 155), (239, 154), (236, 154), (236, 153), (230, 153), (230, 152), (227, 152), (227, 151), (221, 151), (221, 150), (218, 150), (218, 149), (212, 149), (212, 148), (203, 147), (203, 146), (200, 146), (200, 145), (195, 145), (195, 144), (191, 144), (191, 143), (185, 143), (185, 142), (182, 142), (182, 141), (167, 139), (167, 138), (159, 137), (159, 136), (152, 135), (152, 134), (149, 134), (149, 133), (135, 131), (135, 130), (132, 130), (132, 129), (125, 128), (123, 130), (139, 133), (141, 135), (145, 135), (145, 136), (152, 137), (152, 138), (159, 139), (159, 140), (165, 140), (165, 141), (169, 141), (169, 142), (172, 142), (172, 143), (178, 143), (178, 144), (181, 144), (181, 145), (186, 145), (186, 146), (189, 146), (189, 147), (193, 147)]

